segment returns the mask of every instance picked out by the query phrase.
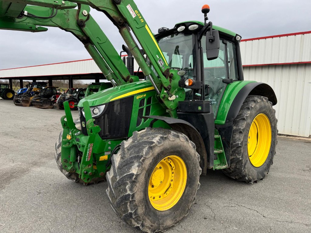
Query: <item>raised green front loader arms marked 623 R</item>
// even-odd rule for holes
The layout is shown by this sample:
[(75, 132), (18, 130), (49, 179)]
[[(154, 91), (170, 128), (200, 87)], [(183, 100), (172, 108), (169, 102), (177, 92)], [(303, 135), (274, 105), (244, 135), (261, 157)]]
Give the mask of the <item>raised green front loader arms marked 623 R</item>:
[[(44, 28), (37, 27), (37, 25), (60, 27), (63, 30), (72, 32), (85, 45), (87, 51), (94, 58), (94, 61), (100, 67), (103, 74), (108, 80), (114, 80), (115, 85), (136, 81), (137, 77), (129, 75), (122, 59), (117, 56), (117, 52), (107, 37), (90, 16), (90, 8), (88, 6), (103, 12), (119, 29), (121, 36), (142, 72), (150, 79), (157, 91), (158, 98), (160, 98), (167, 108), (167, 112), (169, 112), (172, 117), (177, 118), (176, 109), (178, 107), (178, 102), (183, 101), (185, 98), (184, 90), (178, 85), (180, 76), (177, 74), (176, 70), (170, 70), (169, 64), (154, 35), (133, 0), (10, 0), (10, 2), (10, 6), (12, 6), (12, 4), (17, 4), (19, 6), (18, 10), (21, 9), (23, 4), (30, 4), (40, 6), (41, 8), (52, 7), (61, 9), (61, 13), (57, 12), (55, 17), (48, 20), (38, 18), (35, 20), (31, 18), (29, 20), (29, 17), (27, 17), (27, 21), (21, 24), (22, 22), (19, 21), (18, 16), (16, 16), (17, 11), (15, 12), (15, 17), (10, 18), (6, 16), (6, 13), (3, 13), (7, 11), (1, 8), (0, 29), (44, 31)], [(73, 8), (75, 3), (78, 4), (78, 9), (64, 10), (66, 8)], [(0, 7), (1, 6), (7, 7), (6, 2), (0, 1)], [(10, 6), (9, 9), (11, 8)], [(35, 9), (33, 6), (31, 7), (31, 9)], [(36, 9), (38, 9), (37, 12), (39, 15), (41, 9)], [(49, 9), (45, 15), (49, 16), (51, 11), (52, 10)], [(65, 12), (72, 12), (71, 17), (66, 17), (67, 13)], [(22, 16), (22, 19), (25, 17), (26, 16)], [(27, 27), (29, 29), (27, 29)], [(142, 46), (150, 64), (138, 48), (130, 30), (132, 30), (134, 36)]]

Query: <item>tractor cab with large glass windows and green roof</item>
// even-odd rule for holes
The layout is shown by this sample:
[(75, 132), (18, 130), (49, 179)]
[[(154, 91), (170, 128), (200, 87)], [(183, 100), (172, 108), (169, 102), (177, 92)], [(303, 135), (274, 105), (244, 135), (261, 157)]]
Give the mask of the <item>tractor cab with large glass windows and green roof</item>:
[[(218, 47), (214, 49), (216, 55), (209, 51), (211, 32), (217, 40), (213, 42)], [(155, 37), (169, 66), (182, 76), (179, 86), (185, 88), (185, 100), (210, 101), (216, 117), (226, 85), (243, 80), (241, 37), (215, 25), (208, 29), (199, 21), (181, 22), (172, 29), (160, 28)], [(209, 53), (212, 57), (208, 57)]]

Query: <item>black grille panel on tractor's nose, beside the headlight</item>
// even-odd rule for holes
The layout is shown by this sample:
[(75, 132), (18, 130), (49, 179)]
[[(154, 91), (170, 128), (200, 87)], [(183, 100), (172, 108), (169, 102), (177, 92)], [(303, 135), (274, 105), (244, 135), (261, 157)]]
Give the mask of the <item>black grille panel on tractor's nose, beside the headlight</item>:
[[(108, 107), (99, 117), (94, 118), (94, 124), (100, 126), (99, 135), (102, 139), (126, 138), (130, 127), (133, 106), (133, 96), (108, 103)], [(81, 114), (81, 122), (85, 122)], [(82, 133), (87, 135), (86, 128)]]

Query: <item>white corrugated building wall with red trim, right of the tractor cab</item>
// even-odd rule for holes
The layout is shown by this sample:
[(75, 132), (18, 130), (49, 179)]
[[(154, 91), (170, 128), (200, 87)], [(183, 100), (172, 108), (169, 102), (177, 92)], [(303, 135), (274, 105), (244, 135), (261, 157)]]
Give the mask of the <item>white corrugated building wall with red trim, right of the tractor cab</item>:
[(311, 31), (245, 39), (245, 80), (270, 85), (280, 134), (311, 135)]

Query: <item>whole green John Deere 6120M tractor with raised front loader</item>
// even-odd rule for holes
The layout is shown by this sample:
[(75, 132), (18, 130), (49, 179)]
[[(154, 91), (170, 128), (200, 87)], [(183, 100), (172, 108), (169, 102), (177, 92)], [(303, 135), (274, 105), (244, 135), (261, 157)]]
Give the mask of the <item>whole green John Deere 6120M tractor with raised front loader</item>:
[[(130, 226), (156, 232), (176, 225), (207, 169), (248, 183), (269, 172), (276, 96), (267, 84), (243, 80), (241, 36), (207, 22), (208, 5), (204, 23), (180, 22), (154, 35), (133, 0), (0, 2), (1, 29), (71, 32), (111, 81), (79, 102), (76, 121), (64, 102), (55, 158), (70, 180), (107, 180), (111, 207)], [(118, 28), (146, 80), (124, 65), (90, 6)]]

